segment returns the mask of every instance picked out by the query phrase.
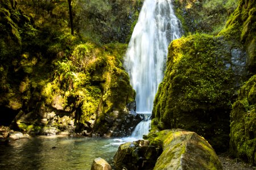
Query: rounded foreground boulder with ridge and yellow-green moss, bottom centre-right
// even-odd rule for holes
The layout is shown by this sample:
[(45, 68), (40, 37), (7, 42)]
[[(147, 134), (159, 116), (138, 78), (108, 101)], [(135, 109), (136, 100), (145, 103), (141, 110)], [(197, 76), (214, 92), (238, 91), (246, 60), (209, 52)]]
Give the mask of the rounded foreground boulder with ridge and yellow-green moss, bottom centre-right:
[(222, 169), (212, 146), (195, 132), (172, 129), (160, 131), (155, 135), (156, 137), (150, 139), (150, 143), (162, 141), (163, 153), (156, 161), (154, 170)]

